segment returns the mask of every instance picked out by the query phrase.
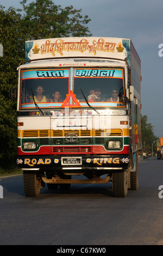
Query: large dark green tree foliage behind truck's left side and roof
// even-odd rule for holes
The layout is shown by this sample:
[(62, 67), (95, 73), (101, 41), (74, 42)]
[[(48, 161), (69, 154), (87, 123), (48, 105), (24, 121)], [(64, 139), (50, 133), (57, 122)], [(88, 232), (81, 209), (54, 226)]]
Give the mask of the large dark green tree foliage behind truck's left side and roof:
[(80, 15), (81, 9), (72, 5), (62, 9), (51, 0), (35, 0), (21, 9), (10, 7), (4, 10), (0, 5), (0, 166), (13, 167), (17, 155), (16, 102), (10, 99), (10, 89), (17, 86), (17, 66), (25, 59), (25, 41), (61, 36), (89, 36), (88, 16)]

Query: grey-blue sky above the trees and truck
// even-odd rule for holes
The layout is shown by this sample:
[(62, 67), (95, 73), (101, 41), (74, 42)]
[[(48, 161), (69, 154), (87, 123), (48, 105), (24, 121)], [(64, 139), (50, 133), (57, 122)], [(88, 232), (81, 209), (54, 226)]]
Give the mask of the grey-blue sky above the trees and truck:
[[(0, 0), (8, 9), (21, 8), (20, 0)], [(27, 4), (33, 2), (28, 0)], [(163, 137), (163, 1), (162, 0), (55, 0), (62, 8), (73, 5), (88, 15), (92, 36), (131, 39), (141, 59), (141, 114)], [(162, 57), (161, 57), (162, 56)]]

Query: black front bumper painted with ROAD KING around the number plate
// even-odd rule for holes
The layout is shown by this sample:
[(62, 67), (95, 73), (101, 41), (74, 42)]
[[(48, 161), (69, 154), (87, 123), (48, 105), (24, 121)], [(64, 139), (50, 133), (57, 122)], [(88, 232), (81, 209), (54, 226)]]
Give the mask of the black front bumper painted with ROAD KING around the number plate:
[(17, 166), (22, 169), (126, 169), (128, 164), (128, 155), (17, 156)]

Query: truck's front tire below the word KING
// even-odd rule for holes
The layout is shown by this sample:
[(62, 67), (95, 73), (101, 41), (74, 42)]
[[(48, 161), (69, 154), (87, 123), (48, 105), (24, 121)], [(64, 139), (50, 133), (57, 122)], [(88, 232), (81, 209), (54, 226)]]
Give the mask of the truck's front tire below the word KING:
[(126, 197), (127, 185), (127, 171), (112, 174), (112, 187), (114, 197)]

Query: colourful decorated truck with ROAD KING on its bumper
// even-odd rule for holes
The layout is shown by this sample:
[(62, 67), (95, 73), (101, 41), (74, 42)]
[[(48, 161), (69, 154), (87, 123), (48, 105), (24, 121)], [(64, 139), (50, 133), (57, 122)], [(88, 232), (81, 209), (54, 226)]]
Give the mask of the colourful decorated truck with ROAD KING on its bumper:
[(71, 184), (139, 187), (141, 61), (130, 39), (26, 41), (18, 65), (17, 166), (26, 197)]

